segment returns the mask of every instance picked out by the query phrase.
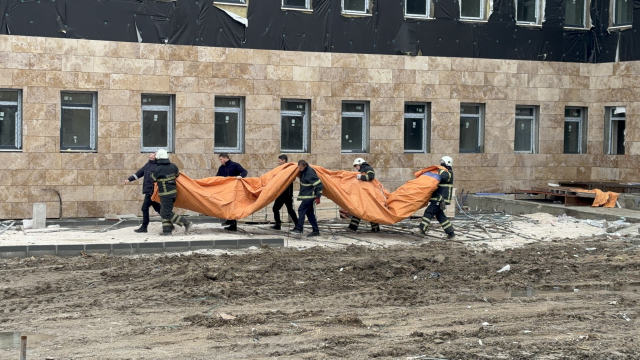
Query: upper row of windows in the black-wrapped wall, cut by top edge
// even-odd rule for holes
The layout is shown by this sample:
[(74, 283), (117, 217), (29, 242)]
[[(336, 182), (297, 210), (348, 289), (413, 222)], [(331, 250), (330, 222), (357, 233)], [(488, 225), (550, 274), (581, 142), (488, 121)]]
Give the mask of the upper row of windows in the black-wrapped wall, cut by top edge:
[[(342, 13), (347, 15), (371, 14), (375, 0), (341, 0)], [(404, 15), (408, 18), (433, 18), (433, 2), (437, 0), (403, 0)], [(514, 0), (516, 21), (520, 24), (540, 25), (544, 19), (544, 0)], [(246, 0), (215, 0), (214, 3), (246, 5)], [(491, 0), (460, 0), (460, 18), (467, 20), (487, 20), (493, 3)], [(312, 11), (311, 0), (282, 0), (282, 8), (287, 10)], [(612, 23), (614, 26), (631, 25), (633, 0), (611, 1)], [(565, 26), (588, 27), (589, 0), (566, 0)]]

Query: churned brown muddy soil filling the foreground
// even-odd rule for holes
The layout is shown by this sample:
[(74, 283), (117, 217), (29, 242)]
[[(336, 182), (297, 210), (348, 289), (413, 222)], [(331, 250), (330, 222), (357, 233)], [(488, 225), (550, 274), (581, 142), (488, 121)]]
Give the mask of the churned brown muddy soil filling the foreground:
[(604, 237), (0, 260), (0, 332), (30, 359), (638, 359), (639, 271)]

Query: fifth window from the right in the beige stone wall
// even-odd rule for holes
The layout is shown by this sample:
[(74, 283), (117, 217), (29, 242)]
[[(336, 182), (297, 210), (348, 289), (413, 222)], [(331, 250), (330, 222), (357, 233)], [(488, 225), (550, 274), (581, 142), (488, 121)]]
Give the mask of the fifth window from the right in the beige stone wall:
[(429, 104), (404, 104), (404, 152), (429, 152), (430, 112)]

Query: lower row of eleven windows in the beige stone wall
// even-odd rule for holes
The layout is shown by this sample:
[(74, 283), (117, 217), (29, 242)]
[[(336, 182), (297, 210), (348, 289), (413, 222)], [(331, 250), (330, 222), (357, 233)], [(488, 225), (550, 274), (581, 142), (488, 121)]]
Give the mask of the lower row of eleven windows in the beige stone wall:
[[(174, 96), (143, 94), (141, 106), (141, 151), (173, 151)], [(22, 148), (22, 92), (0, 91), (0, 149)], [(244, 151), (244, 98), (215, 97), (214, 150)], [(60, 150), (97, 149), (97, 94), (62, 92)], [(309, 152), (310, 100), (282, 100), (280, 146), (282, 152)], [(484, 104), (460, 105), (460, 153), (484, 152)], [(429, 103), (407, 102), (404, 106), (404, 151), (428, 153), (431, 142)], [(539, 150), (539, 108), (516, 106), (514, 150)], [(626, 109), (608, 107), (605, 112), (605, 153), (624, 154)], [(342, 102), (341, 151), (366, 153), (369, 150), (369, 102)], [(587, 108), (567, 107), (564, 120), (564, 153), (587, 151)]]

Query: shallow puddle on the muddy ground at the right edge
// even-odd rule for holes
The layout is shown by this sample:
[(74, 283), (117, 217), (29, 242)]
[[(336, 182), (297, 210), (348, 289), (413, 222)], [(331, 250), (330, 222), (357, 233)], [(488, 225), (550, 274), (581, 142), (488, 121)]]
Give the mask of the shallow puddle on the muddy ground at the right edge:
[(612, 292), (637, 292), (640, 290), (640, 285), (603, 285), (603, 286), (551, 286), (551, 287), (528, 287), (525, 290), (507, 290), (507, 289), (494, 289), (480, 294), (482, 297), (491, 297), (494, 299), (507, 299), (517, 297), (533, 297), (533, 296), (553, 296), (560, 293), (591, 293), (597, 291), (612, 291)]

